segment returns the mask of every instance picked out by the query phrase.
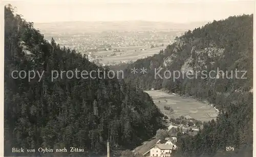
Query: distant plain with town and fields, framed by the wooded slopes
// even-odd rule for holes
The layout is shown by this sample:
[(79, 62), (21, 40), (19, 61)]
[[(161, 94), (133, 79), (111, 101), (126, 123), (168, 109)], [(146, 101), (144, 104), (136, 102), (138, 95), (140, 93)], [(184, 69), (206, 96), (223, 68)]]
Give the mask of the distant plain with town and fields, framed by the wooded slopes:
[[(44, 33), (47, 40), (53, 38), (60, 47), (75, 49), (77, 53), (86, 55), (89, 61), (103, 66), (128, 63), (148, 55), (157, 54), (168, 44), (173, 43), (179, 34), (181, 33), (156, 31), (103, 31), (83, 34)], [(126, 52), (130, 56), (134, 53), (133, 58), (126, 58)], [(111, 57), (115, 57), (117, 61), (112, 60)]]

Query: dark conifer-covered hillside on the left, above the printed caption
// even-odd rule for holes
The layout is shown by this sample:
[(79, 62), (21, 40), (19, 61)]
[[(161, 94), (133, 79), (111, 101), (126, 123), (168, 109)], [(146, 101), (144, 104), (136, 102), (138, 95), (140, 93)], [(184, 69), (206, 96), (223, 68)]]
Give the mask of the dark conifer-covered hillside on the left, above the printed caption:
[[(76, 68), (103, 69), (74, 50), (60, 48), (54, 39), (49, 43), (32, 22), (14, 15), (10, 5), (5, 8), (6, 156), (33, 155), (26, 148), (37, 152), (39, 147), (71, 146), (100, 154), (106, 152), (106, 140), (112, 150), (134, 148), (163, 127), (163, 115), (152, 98), (122, 80), (58, 77), (51, 81), (51, 70)], [(36, 75), (29, 82), (28, 76), (13, 79), (13, 70), (45, 73), (40, 81)], [(12, 153), (12, 147), (23, 147), (25, 152)]]

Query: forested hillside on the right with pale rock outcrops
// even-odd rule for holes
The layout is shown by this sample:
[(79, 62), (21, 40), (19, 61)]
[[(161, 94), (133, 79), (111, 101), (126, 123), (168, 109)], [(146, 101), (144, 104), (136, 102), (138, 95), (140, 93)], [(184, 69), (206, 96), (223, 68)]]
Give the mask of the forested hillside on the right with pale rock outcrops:
[[(126, 68), (125, 81), (128, 83), (144, 90), (165, 89), (207, 100), (220, 110), (217, 120), (205, 123), (196, 137), (178, 140), (177, 156), (252, 156), (252, 23), (253, 15), (213, 21), (187, 31), (159, 54), (138, 60)], [(148, 71), (133, 74), (131, 69), (134, 67), (144, 67)], [(159, 75), (155, 78), (157, 68), (163, 68), (159, 72), (162, 77), (166, 70), (178, 70), (183, 73), (194, 71), (194, 78), (181, 75), (174, 80), (177, 73), (171, 73), (168, 79)], [(216, 73), (209, 77), (201, 73), (203, 70), (206, 74), (211, 70)], [(218, 70), (223, 70), (224, 74)], [(236, 74), (236, 70), (246, 70), (247, 73)], [(234, 147), (234, 151), (225, 152), (228, 146)]]

